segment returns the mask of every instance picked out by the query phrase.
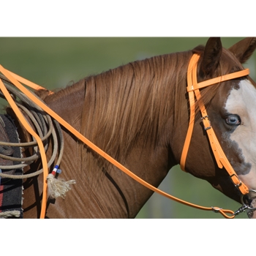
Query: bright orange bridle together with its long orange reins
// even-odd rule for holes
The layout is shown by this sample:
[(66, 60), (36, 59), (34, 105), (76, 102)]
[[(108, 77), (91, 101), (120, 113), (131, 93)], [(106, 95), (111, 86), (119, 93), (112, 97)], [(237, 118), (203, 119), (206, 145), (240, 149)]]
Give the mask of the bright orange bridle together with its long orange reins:
[[(233, 78), (238, 78), (238, 77), (242, 77), (244, 75), (248, 75), (249, 74), (249, 70), (245, 69), (241, 72), (236, 72), (230, 75), (225, 75), (219, 78), (214, 78), (211, 80), (207, 80), (205, 82), (202, 83), (197, 83), (196, 82), (196, 64), (197, 64), (197, 60), (199, 59), (199, 56), (193, 56), (192, 57), (192, 61), (190, 61), (189, 63), (189, 69), (188, 69), (188, 91), (189, 91), (189, 102), (190, 102), (190, 114), (191, 114), (191, 120), (190, 120), (190, 125), (189, 125), (189, 130), (187, 132), (187, 138), (186, 138), (186, 143), (184, 145), (184, 151), (182, 153), (182, 157), (181, 157), (181, 166), (184, 168), (185, 165), (185, 161), (186, 161), (186, 157), (187, 157), (187, 151), (189, 148), (189, 142), (190, 142), (190, 138), (192, 135), (192, 129), (193, 129), (193, 120), (195, 117), (195, 99), (194, 99), (194, 94), (193, 91), (195, 91), (195, 94), (197, 96), (197, 99), (199, 99), (200, 97), (200, 92), (199, 89), (203, 88), (205, 86), (214, 84), (214, 83), (219, 83), (223, 80), (228, 80), (228, 79), (233, 79)], [(195, 67), (195, 69), (193, 69), (192, 71), (192, 67)], [(163, 192), (160, 189), (157, 189), (157, 187), (152, 186), (151, 184), (148, 184), (146, 181), (144, 181), (142, 178), (136, 176), (134, 173), (132, 173), (130, 170), (128, 170), (126, 167), (124, 167), (124, 165), (121, 165), (119, 162), (117, 162), (115, 159), (113, 159), (112, 157), (110, 157), (107, 153), (105, 153), (104, 151), (102, 151), (100, 148), (98, 148), (97, 146), (94, 145), (94, 143), (91, 143), (90, 140), (86, 139), (83, 135), (80, 134), (80, 132), (78, 132), (75, 128), (73, 128), (72, 126), (70, 126), (70, 124), (67, 123), (67, 121), (64, 121), (63, 118), (61, 118), (60, 116), (58, 116), (53, 110), (51, 110), (50, 108), (48, 108), (47, 105), (45, 105), (43, 102), (39, 101), (37, 99), (37, 97), (34, 97), (33, 94), (31, 94), (31, 92), (26, 89), (21, 83), (25, 84), (26, 86), (31, 87), (32, 89), (44, 89), (41, 86), (38, 86), (35, 83), (32, 83), (29, 80), (26, 80), (25, 78), (21, 78), (18, 75), (15, 75), (14, 73), (8, 71), (7, 69), (4, 69), (4, 67), (2, 67), (0, 65), (0, 72), (2, 72), (12, 83), (14, 86), (16, 86), (20, 91), (23, 92), (23, 94), (26, 94), (27, 97), (29, 97), (29, 99), (31, 99), (34, 103), (36, 103), (40, 108), (42, 108), (42, 110), (44, 110), (46, 113), (48, 113), (52, 118), (56, 119), (56, 121), (59, 122), (59, 124), (61, 124), (63, 127), (66, 127), (66, 129), (69, 130), (69, 132), (71, 132), (73, 135), (75, 135), (75, 137), (77, 137), (79, 140), (81, 140), (83, 143), (85, 143), (87, 146), (89, 146), (90, 148), (92, 148), (94, 151), (97, 152), (97, 154), (99, 154), (100, 156), (104, 157), (105, 159), (107, 159), (109, 162), (111, 162), (113, 165), (115, 165), (116, 167), (118, 167), (118, 169), (122, 170), (124, 173), (126, 173), (128, 176), (130, 176), (131, 178), (133, 178), (135, 181), (138, 181), (140, 184), (142, 184), (143, 186), (147, 187), (148, 189), (151, 189), (154, 192), (157, 192), (159, 195), (165, 196), (171, 200), (175, 200), (178, 203), (182, 203), (186, 206), (191, 206), (193, 208), (198, 208), (201, 210), (205, 210), (205, 211), (214, 211), (217, 213), (222, 214), (224, 217), (226, 217), (227, 219), (233, 219), (234, 217), (236, 217), (236, 215), (242, 211), (244, 211), (245, 208), (240, 208), (238, 209), (238, 211), (236, 211), (236, 213), (234, 213), (231, 210), (228, 209), (222, 209), (219, 207), (203, 207), (203, 206), (197, 206), (196, 204), (193, 203), (189, 203), (187, 201), (181, 200), (177, 197), (174, 197), (172, 195), (168, 195), (167, 193)], [(191, 74), (194, 74), (194, 78), (192, 78)], [(193, 83), (192, 83), (193, 81)], [(193, 86), (192, 86), (193, 85)], [(0, 89), (4, 94), (4, 97), (7, 99), (7, 101), (9, 102), (10, 106), (12, 107), (12, 109), (15, 111), (16, 116), (18, 116), (18, 118), (20, 118), (21, 123), (23, 124), (23, 126), (28, 130), (29, 133), (31, 133), (32, 136), (34, 136), (34, 138), (37, 140), (37, 143), (39, 145), (39, 150), (41, 153), (41, 159), (42, 159), (42, 166), (43, 166), (43, 179), (44, 179), (44, 183), (43, 183), (43, 192), (42, 192), (42, 207), (41, 207), (41, 214), (40, 214), (40, 218), (43, 219), (45, 218), (45, 211), (46, 211), (46, 205), (47, 205), (47, 176), (48, 176), (48, 167), (47, 167), (47, 161), (46, 161), (46, 154), (42, 145), (42, 141), (40, 140), (39, 136), (37, 134), (35, 134), (34, 130), (31, 129), (31, 127), (29, 127), (29, 124), (27, 124), (26, 120), (24, 120), (22, 113), (20, 113), (20, 110), (18, 110), (18, 107), (16, 106), (15, 102), (13, 101), (9, 91), (7, 91), (7, 89), (4, 86), (4, 83), (2, 83), (1, 79), (0, 79)], [(208, 120), (207, 113), (206, 110), (204, 108), (203, 105), (200, 106), (200, 108), (202, 108), (203, 110), (203, 122), (205, 127), (211, 127), (211, 124)], [(193, 110), (194, 109), (194, 110)], [(207, 129), (211, 130), (211, 138), (214, 135), (213, 129)], [(215, 136), (215, 135), (214, 135)], [(212, 139), (211, 139), (212, 140)], [(214, 137), (213, 140), (217, 140), (216, 137)], [(236, 173), (234, 172), (233, 168), (227, 167), (227, 165), (230, 165), (230, 163), (228, 162), (227, 159), (225, 159), (225, 154), (222, 152), (222, 148), (217, 144), (217, 143), (213, 143), (214, 144), (214, 155), (217, 155), (217, 162), (219, 166), (223, 166), (228, 170), (228, 172), (230, 173), (230, 177), (232, 178), (233, 182), (239, 187), (239, 189), (242, 189), (243, 193), (245, 194), (248, 189), (246, 188), (246, 186), (244, 184), (241, 183), (241, 181), (239, 181), (238, 177), (236, 176)], [(231, 215), (227, 215), (227, 214), (231, 214)]]

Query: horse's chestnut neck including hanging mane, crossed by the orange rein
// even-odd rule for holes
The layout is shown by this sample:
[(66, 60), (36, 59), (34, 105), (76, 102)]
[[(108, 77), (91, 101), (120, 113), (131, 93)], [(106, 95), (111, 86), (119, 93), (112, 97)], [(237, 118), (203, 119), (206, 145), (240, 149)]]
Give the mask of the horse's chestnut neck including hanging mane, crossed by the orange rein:
[[(173, 95), (180, 97), (178, 88), (181, 85), (177, 84), (174, 75), (163, 78), (163, 70), (157, 71), (160, 76), (153, 75), (154, 80), (152, 76), (146, 78), (146, 75), (141, 75), (140, 70), (139, 85), (129, 73), (136, 73), (140, 64), (136, 62), (125, 70), (113, 70), (80, 80), (74, 86), (46, 97), (45, 102), (96, 146), (132, 173), (158, 187), (170, 167), (177, 163), (173, 158), (171, 138), (176, 134), (173, 128), (176, 117), (181, 118), (182, 114), (176, 114), (180, 102), (179, 99), (173, 100)], [(166, 67), (166, 60), (162, 61), (163, 64), (171, 74), (177, 71)], [(121, 76), (116, 72), (120, 72)], [(122, 82), (121, 78), (127, 80)], [(138, 86), (145, 85), (143, 81), (148, 80), (151, 84), (147, 88), (138, 89)], [(157, 85), (157, 80), (165, 83), (164, 86)], [(124, 86), (128, 82), (132, 85)], [(151, 89), (151, 86), (154, 88)], [(159, 104), (158, 101), (166, 104)], [(51, 214), (59, 217), (135, 217), (153, 192), (110, 165), (65, 130), (64, 141), (61, 176), (65, 180), (77, 181), (65, 200), (72, 201), (72, 207), (76, 208), (72, 198), (80, 197), (83, 198), (83, 206), (79, 206), (80, 215), (76, 215), (79, 212), (76, 210), (72, 216), (58, 215), (57, 207), (49, 208), (49, 217)], [(91, 206), (95, 201), (97, 206)]]

